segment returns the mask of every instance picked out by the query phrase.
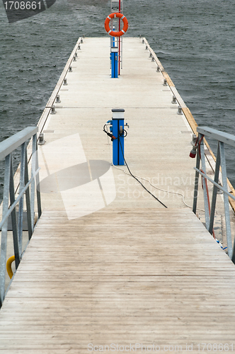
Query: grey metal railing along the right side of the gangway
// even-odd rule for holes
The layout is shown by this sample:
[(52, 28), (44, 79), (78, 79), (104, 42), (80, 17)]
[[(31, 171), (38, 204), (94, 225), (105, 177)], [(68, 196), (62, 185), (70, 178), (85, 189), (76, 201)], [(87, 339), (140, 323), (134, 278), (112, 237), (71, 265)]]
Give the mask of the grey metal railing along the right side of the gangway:
[[(229, 213), (229, 197), (235, 200), (235, 196), (229, 193), (227, 188), (227, 169), (226, 169), (226, 160), (224, 152), (224, 144), (229, 144), (231, 147), (235, 147), (235, 136), (227, 134), (225, 132), (220, 132), (219, 130), (212, 129), (210, 127), (197, 127), (198, 132), (198, 148), (197, 148), (197, 162), (195, 167), (195, 189), (193, 197), (193, 212), (196, 213), (197, 210), (197, 193), (198, 193), (198, 179), (199, 174), (202, 176), (202, 187), (204, 194), (204, 205), (205, 205), (205, 224), (207, 230), (210, 234), (213, 233), (214, 226), (214, 213), (215, 206), (217, 202), (217, 190), (222, 190), (224, 194), (224, 215), (225, 215), (225, 224), (226, 224), (226, 233), (227, 233), (227, 247), (228, 255), (231, 258), (231, 261), (235, 263), (235, 242), (234, 249), (232, 246), (231, 240), (231, 223), (230, 223), (230, 213)], [(204, 136), (210, 137), (217, 140), (217, 158), (214, 169), (214, 181), (212, 178), (206, 174), (206, 161), (205, 161), (205, 151), (204, 151)], [(200, 169), (200, 160), (202, 161), (202, 168)], [(222, 172), (222, 185), (219, 184), (219, 171), (221, 168)], [(213, 194), (211, 205), (209, 202), (209, 195), (206, 185), (206, 180), (213, 183)]]

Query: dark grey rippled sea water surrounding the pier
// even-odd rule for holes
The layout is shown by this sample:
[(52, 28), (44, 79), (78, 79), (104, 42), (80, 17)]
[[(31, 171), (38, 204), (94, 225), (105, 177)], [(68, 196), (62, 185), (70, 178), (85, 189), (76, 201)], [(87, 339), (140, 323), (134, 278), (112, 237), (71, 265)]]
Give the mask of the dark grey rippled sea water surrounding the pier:
[[(197, 124), (235, 135), (234, 0), (124, 0), (123, 12), (127, 35), (147, 38)], [(0, 141), (37, 124), (76, 40), (106, 36), (109, 13), (107, 0), (57, 0), (9, 24), (1, 2)], [(235, 185), (234, 149), (227, 170)]]

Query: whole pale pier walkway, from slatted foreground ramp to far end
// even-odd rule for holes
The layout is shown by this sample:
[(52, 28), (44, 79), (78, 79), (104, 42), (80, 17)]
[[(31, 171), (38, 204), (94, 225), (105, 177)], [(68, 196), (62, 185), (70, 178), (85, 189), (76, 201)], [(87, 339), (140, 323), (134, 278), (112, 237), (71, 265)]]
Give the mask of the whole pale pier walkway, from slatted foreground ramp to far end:
[[(0, 311), (0, 354), (232, 353), (234, 264), (185, 205), (193, 116), (146, 40), (124, 38), (118, 79), (109, 38), (79, 45), (38, 124), (43, 211)], [(111, 166), (112, 108), (130, 125), (132, 173), (168, 209)]]

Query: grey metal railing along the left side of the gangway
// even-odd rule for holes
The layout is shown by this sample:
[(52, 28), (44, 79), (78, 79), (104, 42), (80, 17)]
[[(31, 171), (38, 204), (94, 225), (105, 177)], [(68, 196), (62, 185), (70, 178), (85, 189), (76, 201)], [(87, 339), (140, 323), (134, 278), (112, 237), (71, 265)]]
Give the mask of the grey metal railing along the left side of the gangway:
[[(4, 195), (2, 202), (2, 219), (1, 227), (1, 257), (0, 257), (0, 307), (4, 301), (5, 283), (6, 283), (6, 248), (8, 239), (8, 217), (11, 215), (11, 224), (13, 232), (13, 249), (15, 255), (16, 269), (21, 262), (23, 249), (23, 207), (25, 194), (25, 207), (27, 212), (28, 224), (28, 240), (33, 234), (34, 213), (35, 213), (35, 194), (38, 204), (38, 218), (40, 217), (40, 185), (39, 185), (39, 168), (38, 168), (38, 144), (37, 144), (38, 127), (27, 127), (21, 132), (9, 137), (0, 143), (0, 160), (5, 159), (4, 172)], [(32, 154), (30, 156), (31, 177), (28, 176), (28, 157), (26, 142), (32, 139)], [(20, 181), (18, 184), (18, 197), (16, 198), (16, 190), (13, 178), (13, 158), (12, 152), (21, 147), (21, 171)], [(36, 193), (35, 193), (36, 183)], [(16, 213), (16, 205), (18, 205), (18, 217)]]

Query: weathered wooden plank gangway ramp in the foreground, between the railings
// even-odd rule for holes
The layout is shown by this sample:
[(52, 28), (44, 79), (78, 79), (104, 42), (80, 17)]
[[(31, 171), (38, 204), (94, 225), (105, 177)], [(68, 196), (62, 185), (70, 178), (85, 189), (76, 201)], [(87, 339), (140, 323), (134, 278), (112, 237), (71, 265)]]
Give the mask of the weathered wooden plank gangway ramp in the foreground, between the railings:
[(0, 353), (232, 353), (234, 305), (234, 265), (190, 210), (45, 210), (1, 309)]

